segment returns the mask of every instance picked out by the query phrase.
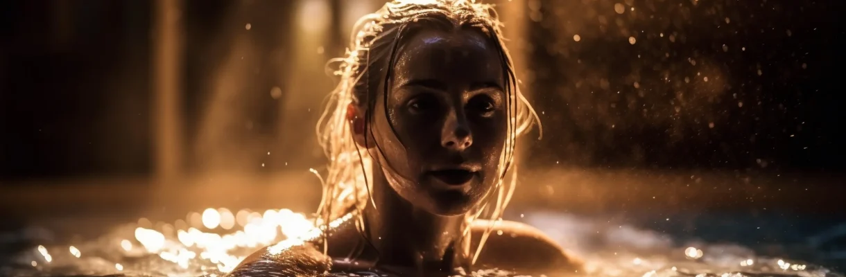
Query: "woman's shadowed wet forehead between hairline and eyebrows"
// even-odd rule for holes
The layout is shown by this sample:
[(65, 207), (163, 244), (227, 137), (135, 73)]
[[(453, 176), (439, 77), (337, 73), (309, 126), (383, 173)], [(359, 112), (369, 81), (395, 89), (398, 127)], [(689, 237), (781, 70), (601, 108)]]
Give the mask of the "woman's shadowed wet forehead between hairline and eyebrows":
[(480, 31), (420, 30), (400, 48), (393, 78), (503, 84), (503, 62)]

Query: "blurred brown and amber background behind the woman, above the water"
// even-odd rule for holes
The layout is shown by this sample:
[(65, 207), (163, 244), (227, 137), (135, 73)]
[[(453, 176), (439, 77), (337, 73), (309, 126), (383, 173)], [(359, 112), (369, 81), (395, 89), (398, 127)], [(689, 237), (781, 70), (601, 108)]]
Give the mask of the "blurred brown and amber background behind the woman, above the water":
[[(313, 212), (327, 60), (383, 3), (3, 3), (0, 230), (79, 239), (206, 207)], [(486, 3), (543, 123), (523, 138), (508, 216), (846, 263), (843, 2)]]

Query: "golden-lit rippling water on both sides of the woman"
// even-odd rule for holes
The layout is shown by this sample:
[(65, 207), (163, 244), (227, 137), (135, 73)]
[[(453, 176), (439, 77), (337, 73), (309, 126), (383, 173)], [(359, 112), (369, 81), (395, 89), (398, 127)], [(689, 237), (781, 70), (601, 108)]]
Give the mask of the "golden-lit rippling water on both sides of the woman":
[[(263, 213), (206, 209), (172, 224), (141, 219), (95, 241), (38, 246), (3, 275), (222, 276), (261, 247), (313, 235), (314, 224), (289, 209)], [(684, 247), (656, 231), (599, 220), (536, 212), (523, 218), (582, 258), (588, 276), (842, 276), (788, 258), (756, 256), (737, 245), (690, 242)], [(288, 241), (289, 242), (289, 241)], [(481, 270), (472, 275), (502, 275)]]

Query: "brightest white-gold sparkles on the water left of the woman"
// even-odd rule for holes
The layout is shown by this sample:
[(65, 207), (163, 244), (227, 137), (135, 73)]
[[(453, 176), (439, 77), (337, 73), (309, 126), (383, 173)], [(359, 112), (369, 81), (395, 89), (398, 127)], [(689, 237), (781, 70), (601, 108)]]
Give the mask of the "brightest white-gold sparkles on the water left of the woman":
[[(337, 227), (340, 222), (349, 220), (350, 216), (332, 221), (329, 226)], [(242, 209), (237, 215), (233, 215), (229, 209), (209, 208), (203, 210), (202, 214), (190, 213), (188, 219), (190, 225), (180, 223), (181, 220), (177, 220), (173, 225), (155, 224), (162, 226), (162, 230), (148, 229), (146, 227), (154, 225), (145, 222), (146, 227), (135, 228), (135, 240), (143, 246), (142, 251), (176, 263), (182, 269), (189, 269), (192, 264), (206, 260), (214, 263), (222, 273), (228, 273), (246, 258), (245, 255), (257, 248), (272, 246), (269, 249), (278, 253), (321, 234), (305, 215), (294, 213), (290, 209), (268, 209), (261, 213)], [(235, 225), (236, 222), (241, 228)], [(168, 228), (170, 231), (164, 231)], [(217, 229), (211, 231), (215, 228)], [(173, 234), (174, 229), (175, 236), (165, 235)], [(220, 232), (222, 230), (227, 230), (227, 233)], [(125, 251), (133, 248), (129, 240), (122, 240), (120, 247)], [(71, 249), (71, 253), (74, 253), (76, 248)], [(39, 247), (38, 250), (48, 262), (52, 259), (48, 258), (46, 248)], [(79, 250), (76, 251), (78, 253)], [(115, 269), (124, 268), (117, 263)]]

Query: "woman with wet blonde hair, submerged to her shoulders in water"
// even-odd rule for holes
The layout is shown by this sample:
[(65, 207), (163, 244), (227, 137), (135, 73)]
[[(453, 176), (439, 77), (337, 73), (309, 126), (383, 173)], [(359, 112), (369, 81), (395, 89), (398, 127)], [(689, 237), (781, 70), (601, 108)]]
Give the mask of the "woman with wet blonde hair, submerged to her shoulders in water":
[[(500, 220), (514, 139), (536, 118), (489, 5), (398, 1), (360, 19), (318, 125), (321, 230), (233, 275), (573, 273), (540, 231)], [(510, 169), (510, 171), (509, 171)], [(508, 179), (508, 180), (506, 180)]]

